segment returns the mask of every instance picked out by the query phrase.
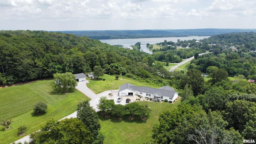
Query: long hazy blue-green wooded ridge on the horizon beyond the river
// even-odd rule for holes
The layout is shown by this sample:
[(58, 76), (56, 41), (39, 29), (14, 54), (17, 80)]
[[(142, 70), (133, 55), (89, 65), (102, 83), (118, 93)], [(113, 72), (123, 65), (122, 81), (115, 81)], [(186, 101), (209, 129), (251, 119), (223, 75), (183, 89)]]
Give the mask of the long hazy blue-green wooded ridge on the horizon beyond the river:
[(93, 39), (161, 38), (181, 36), (213, 36), (232, 32), (256, 32), (256, 29), (184, 29), (184, 30), (78, 30), (62, 33), (87, 36)]

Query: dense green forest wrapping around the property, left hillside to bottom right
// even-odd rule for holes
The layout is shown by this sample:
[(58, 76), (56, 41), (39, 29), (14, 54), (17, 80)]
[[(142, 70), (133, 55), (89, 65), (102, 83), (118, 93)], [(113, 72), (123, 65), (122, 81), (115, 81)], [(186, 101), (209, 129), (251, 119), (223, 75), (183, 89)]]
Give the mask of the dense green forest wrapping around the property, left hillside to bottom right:
[[(256, 79), (255, 42), (255, 32), (220, 34), (199, 42), (160, 42), (150, 55), (74, 34), (0, 31), (0, 84), (52, 78), (56, 72), (88, 73), (95, 67), (105, 74), (122, 72), (153, 86), (172, 86), (182, 97), (177, 110), (159, 115), (148, 144), (239, 144), (256, 139), (256, 84), (248, 82)], [(195, 59), (186, 72), (164, 68), (190, 56)]]

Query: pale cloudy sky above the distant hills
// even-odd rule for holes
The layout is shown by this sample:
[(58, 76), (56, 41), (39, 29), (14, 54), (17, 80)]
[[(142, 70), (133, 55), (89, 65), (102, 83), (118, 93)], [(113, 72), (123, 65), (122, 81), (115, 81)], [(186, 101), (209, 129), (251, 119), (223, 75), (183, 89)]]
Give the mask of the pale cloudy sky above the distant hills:
[(256, 0), (0, 0), (0, 30), (256, 28)]

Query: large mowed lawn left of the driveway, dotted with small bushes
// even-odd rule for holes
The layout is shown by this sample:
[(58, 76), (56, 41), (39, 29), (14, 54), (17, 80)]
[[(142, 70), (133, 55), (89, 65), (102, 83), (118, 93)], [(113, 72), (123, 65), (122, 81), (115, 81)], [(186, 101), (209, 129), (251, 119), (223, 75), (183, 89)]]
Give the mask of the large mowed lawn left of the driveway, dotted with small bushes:
[[(76, 111), (77, 104), (90, 100), (84, 94), (75, 90), (68, 94), (54, 94), (51, 83), (53, 80), (40, 80), (30, 84), (0, 88), (0, 122), (10, 120), (11, 128), (0, 128), (0, 143), (8, 144), (22, 138), (17, 136), (18, 128), (26, 126), (26, 134), (39, 130), (49, 118), (60, 120)], [(38, 101), (46, 102), (48, 110), (45, 115), (32, 116), (33, 106)]]

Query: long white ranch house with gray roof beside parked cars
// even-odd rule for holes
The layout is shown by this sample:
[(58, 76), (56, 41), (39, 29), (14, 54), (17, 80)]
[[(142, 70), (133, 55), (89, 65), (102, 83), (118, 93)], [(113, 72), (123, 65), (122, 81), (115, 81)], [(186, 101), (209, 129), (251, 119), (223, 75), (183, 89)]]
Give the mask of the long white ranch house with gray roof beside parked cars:
[(145, 86), (134, 86), (126, 83), (119, 87), (119, 96), (134, 96), (140, 95), (143, 98), (152, 98), (155, 100), (168, 100), (174, 101), (178, 98), (178, 92), (175, 92), (170, 86), (163, 86), (161, 88), (149, 88)]

